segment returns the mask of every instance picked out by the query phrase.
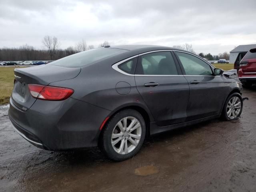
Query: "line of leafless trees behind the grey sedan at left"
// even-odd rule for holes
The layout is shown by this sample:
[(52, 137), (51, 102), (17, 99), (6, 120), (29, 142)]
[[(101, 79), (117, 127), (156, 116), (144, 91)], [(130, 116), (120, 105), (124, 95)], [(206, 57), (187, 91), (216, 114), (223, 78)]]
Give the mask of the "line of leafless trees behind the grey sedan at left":
[[(25, 44), (19, 48), (0, 48), (0, 61), (26, 61), (26, 60), (57, 60), (78, 52), (93, 49), (93, 45), (87, 45), (82, 39), (74, 46), (60, 49), (60, 41), (55, 36), (44, 36), (42, 44), (45, 49), (36, 49), (34, 46)], [(99, 47), (110, 45), (105, 41)]]

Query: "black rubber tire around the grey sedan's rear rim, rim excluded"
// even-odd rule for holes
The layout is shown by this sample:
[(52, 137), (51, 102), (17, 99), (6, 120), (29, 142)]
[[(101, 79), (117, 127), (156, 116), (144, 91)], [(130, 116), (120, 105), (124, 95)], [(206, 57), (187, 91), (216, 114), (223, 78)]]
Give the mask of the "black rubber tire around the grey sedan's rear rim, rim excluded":
[[(114, 148), (112, 147), (111, 144), (111, 140), (112, 140), (112, 132), (116, 126), (116, 124), (125, 117), (134, 117), (136, 118), (141, 125), (141, 138), (140, 138), (140, 142), (138, 143), (138, 145), (136, 146), (136, 148), (128, 153), (128, 154), (118, 154)], [(106, 124), (106, 127), (104, 129), (103, 132), (103, 136), (102, 136), (102, 148), (103, 148), (103, 152), (106, 154), (106, 156), (108, 156), (110, 159), (115, 160), (115, 161), (122, 161), (122, 160), (126, 160), (128, 158), (131, 158), (132, 156), (134, 156), (141, 148), (144, 139), (146, 136), (146, 124), (144, 121), (144, 118), (142, 117), (142, 115), (136, 111), (136, 110), (132, 110), (132, 109), (128, 109), (128, 110), (123, 110), (118, 112), (117, 114), (115, 114), (110, 120), (109, 122)]]

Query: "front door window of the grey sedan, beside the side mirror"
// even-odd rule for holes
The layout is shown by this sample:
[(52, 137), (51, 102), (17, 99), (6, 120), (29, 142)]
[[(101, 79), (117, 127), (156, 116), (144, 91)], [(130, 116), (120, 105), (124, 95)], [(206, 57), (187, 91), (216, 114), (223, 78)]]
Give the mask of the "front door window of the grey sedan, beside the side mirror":
[(186, 75), (212, 75), (211, 67), (201, 59), (191, 54), (176, 52)]

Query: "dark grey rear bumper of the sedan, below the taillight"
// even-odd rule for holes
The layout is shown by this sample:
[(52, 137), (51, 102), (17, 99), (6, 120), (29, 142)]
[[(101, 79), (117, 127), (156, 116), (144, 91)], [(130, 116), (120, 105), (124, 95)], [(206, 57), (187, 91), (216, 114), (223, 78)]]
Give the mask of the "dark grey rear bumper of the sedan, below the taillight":
[(95, 147), (100, 125), (109, 110), (68, 98), (36, 102), (26, 112), (10, 99), (9, 118), (14, 130), (31, 144), (52, 151)]

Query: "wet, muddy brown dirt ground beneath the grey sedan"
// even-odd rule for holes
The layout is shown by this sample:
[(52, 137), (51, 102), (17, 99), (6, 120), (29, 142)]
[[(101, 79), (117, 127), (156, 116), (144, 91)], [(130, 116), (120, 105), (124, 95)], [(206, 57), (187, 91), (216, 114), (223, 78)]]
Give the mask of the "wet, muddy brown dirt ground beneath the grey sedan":
[(256, 191), (256, 86), (241, 118), (212, 120), (148, 139), (134, 158), (97, 149), (50, 152), (19, 136), (0, 107), (0, 191)]

